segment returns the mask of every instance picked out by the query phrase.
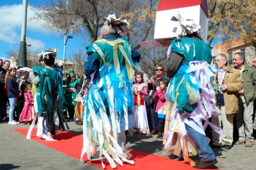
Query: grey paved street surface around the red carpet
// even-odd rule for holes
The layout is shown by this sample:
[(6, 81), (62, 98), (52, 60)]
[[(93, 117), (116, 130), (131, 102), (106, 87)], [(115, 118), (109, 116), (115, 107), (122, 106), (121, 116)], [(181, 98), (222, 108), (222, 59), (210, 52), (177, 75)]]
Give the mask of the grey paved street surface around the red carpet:
[[(82, 135), (82, 125), (68, 122), (68, 126), (70, 127), (70, 132)], [(86, 162), (81, 162), (80, 160), (43, 146), (34, 140), (27, 140), (22, 134), (13, 131), (15, 128), (28, 127), (29, 125), (25, 125), (24, 123), (11, 125), (8, 124), (8, 122), (0, 122), (0, 170), (99, 169)], [(162, 142), (156, 137), (157, 135), (135, 134), (134, 137), (126, 139), (127, 146), (141, 152), (173, 158), (170, 154), (162, 155)], [(213, 149), (219, 161), (215, 168), (219, 168), (220, 170), (255, 170), (256, 140), (254, 140), (253, 143), (255, 143), (255, 145), (251, 148), (247, 148), (244, 145), (235, 145), (228, 151), (224, 149)]]

